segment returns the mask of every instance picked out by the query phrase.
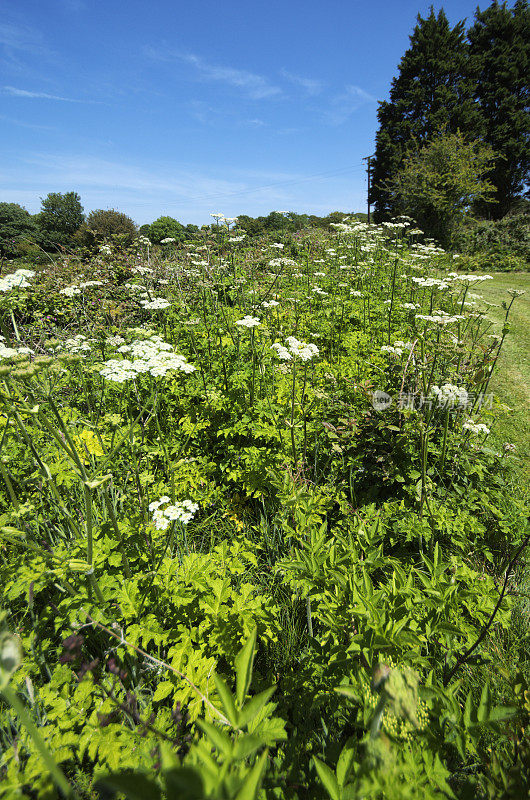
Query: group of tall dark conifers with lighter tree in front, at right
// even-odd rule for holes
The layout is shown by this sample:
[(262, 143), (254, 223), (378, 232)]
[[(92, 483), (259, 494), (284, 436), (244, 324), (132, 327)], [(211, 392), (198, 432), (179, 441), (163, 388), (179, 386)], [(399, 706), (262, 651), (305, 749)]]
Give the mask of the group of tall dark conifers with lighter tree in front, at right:
[(477, 9), (467, 31), (465, 20), (451, 27), (443, 9), (418, 14), (389, 99), (379, 104), (369, 198), (375, 220), (412, 212), (429, 233), (450, 240), (451, 222), (440, 217), (451, 217), (451, 205), (453, 223), (455, 209), (496, 220), (524, 205), (529, 68), (527, 0)]

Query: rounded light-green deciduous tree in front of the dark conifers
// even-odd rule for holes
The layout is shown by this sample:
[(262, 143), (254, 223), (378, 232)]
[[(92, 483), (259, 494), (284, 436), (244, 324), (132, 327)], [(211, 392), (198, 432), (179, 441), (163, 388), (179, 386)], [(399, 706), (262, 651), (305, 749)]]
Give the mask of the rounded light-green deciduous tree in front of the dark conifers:
[(460, 132), (435, 136), (406, 156), (390, 184), (392, 205), (412, 214), (442, 245), (451, 245), (466, 210), (493, 192), (484, 178), (493, 160), (489, 147), (466, 142)]

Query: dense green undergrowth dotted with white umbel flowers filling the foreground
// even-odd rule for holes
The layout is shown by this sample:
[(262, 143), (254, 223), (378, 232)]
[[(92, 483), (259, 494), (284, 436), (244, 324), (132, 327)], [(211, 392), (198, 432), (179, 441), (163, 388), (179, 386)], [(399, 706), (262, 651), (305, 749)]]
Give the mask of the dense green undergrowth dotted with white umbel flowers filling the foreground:
[(517, 293), (229, 229), (0, 279), (0, 797), (526, 796)]

